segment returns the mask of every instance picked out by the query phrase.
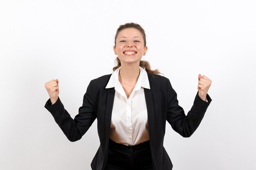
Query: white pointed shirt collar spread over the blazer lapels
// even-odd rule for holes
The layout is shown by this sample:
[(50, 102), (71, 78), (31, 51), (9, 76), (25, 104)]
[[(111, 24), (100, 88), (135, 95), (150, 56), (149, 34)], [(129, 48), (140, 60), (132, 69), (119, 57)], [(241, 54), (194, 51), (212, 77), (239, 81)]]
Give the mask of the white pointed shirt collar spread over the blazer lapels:
[[(121, 67), (117, 68), (117, 70), (115, 70), (112, 73), (112, 75), (110, 76), (110, 79), (108, 81), (108, 84), (105, 87), (106, 89), (112, 88), (112, 87), (117, 87), (117, 85), (119, 84), (118, 74), (119, 74), (120, 68)], [(149, 81), (148, 81), (148, 74), (147, 74), (146, 70), (144, 70), (140, 66), (139, 66), (139, 69), (140, 69), (139, 78), (138, 78), (138, 81), (135, 85), (135, 89), (141, 88), (141, 87), (144, 87), (146, 89), (150, 89), (150, 85), (149, 85)]]

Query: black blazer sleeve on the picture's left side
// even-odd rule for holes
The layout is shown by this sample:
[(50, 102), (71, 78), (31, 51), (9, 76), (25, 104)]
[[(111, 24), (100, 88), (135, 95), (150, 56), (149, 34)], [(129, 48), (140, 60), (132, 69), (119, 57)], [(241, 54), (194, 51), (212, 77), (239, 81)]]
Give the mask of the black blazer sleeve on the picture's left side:
[(55, 122), (66, 135), (67, 139), (71, 142), (81, 139), (97, 117), (94, 108), (92, 83), (90, 82), (88, 85), (83, 96), (83, 105), (79, 108), (79, 113), (74, 119), (71, 118), (70, 114), (64, 108), (60, 98), (53, 105), (50, 99), (47, 100), (45, 108), (52, 114)]

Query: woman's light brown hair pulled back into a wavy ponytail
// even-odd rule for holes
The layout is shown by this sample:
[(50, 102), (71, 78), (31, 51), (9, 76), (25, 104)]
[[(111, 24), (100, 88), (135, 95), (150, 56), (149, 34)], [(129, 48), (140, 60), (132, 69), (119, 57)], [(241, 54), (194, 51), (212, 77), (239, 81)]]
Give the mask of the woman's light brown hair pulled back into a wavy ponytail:
[[(116, 36), (115, 36), (115, 46), (116, 46), (116, 39), (117, 39), (118, 33), (126, 28), (135, 28), (135, 29), (139, 30), (141, 32), (143, 40), (144, 40), (144, 47), (146, 47), (146, 34), (145, 34), (144, 29), (139, 24), (136, 24), (133, 22), (126, 23), (124, 25), (119, 26), (119, 28), (117, 29)], [(117, 65), (113, 68), (113, 71), (115, 71), (117, 68), (119, 68), (121, 66), (121, 61), (119, 60), (118, 57), (116, 58), (115, 61), (116, 61)], [(148, 61), (143, 61), (143, 60), (139, 61), (139, 66), (144, 68), (146, 70), (146, 72), (148, 72), (149, 74), (161, 74), (159, 72), (159, 70), (157, 70), (157, 69), (151, 70), (150, 64)]]

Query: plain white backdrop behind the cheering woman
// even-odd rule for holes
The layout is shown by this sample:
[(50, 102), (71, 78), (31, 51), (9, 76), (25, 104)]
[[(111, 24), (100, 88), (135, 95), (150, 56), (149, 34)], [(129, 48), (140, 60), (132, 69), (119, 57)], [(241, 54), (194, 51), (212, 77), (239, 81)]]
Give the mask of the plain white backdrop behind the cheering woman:
[(173, 170), (255, 170), (256, 2), (254, 0), (1, 0), (0, 169), (90, 170), (97, 121), (70, 142), (44, 108), (58, 78), (72, 118), (90, 80), (112, 73), (115, 31), (136, 22), (150, 62), (170, 79), (187, 113), (198, 74), (213, 99), (197, 131), (167, 123)]

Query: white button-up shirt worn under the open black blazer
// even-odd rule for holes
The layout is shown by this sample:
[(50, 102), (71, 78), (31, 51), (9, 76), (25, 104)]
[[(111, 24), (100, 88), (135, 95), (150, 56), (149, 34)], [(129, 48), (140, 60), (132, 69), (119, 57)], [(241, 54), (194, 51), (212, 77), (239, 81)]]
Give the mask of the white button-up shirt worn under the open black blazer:
[(106, 88), (115, 87), (110, 139), (124, 145), (136, 145), (149, 140), (148, 112), (144, 88), (150, 89), (146, 70), (140, 68), (138, 81), (127, 98), (119, 82), (121, 67), (112, 73)]

